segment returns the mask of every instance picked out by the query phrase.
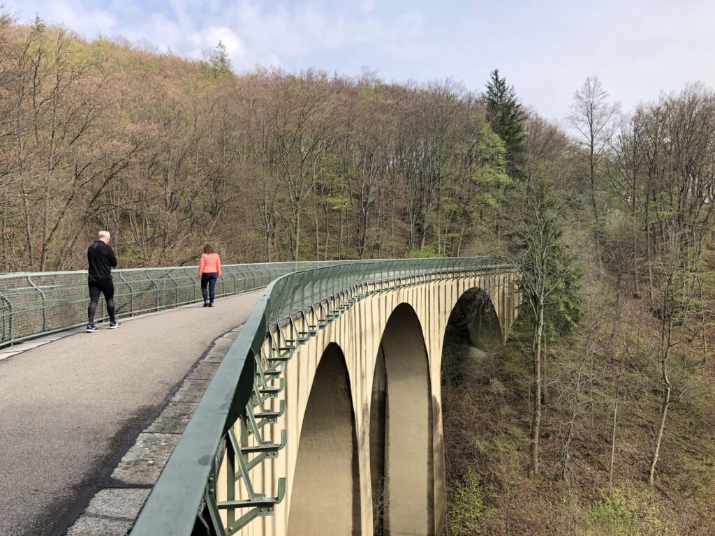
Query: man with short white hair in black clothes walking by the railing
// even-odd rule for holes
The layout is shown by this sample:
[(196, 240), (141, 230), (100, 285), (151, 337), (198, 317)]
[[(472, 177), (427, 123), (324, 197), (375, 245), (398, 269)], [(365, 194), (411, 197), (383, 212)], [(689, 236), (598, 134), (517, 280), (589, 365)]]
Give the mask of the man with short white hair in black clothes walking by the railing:
[(122, 324), (114, 318), (114, 283), (112, 282), (112, 268), (117, 267), (117, 257), (109, 245), (109, 232), (100, 231), (95, 242), (87, 249), (87, 262), (89, 263), (89, 309), (87, 309), (87, 333), (97, 331), (94, 325), (94, 314), (99, 304), (99, 294), (104, 294), (109, 313), (109, 328), (114, 329)]

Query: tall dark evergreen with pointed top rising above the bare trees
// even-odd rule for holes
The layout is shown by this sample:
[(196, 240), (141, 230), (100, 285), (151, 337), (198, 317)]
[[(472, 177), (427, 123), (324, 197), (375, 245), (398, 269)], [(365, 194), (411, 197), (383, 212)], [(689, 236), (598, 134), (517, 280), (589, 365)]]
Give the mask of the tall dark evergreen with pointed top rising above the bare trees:
[(506, 145), (506, 169), (511, 177), (523, 177), (526, 112), (516, 99), (514, 86), (506, 85), (499, 70), (491, 71), (485, 94), (487, 119)]

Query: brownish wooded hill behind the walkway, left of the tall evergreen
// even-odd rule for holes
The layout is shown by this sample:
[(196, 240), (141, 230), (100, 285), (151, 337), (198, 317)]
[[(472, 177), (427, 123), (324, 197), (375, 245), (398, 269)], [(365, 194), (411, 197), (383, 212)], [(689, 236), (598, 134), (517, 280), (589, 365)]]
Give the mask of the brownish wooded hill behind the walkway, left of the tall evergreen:
[(4, 271), (83, 267), (109, 229), (123, 267), (471, 254), (510, 179), (459, 84), (207, 61), (4, 19)]

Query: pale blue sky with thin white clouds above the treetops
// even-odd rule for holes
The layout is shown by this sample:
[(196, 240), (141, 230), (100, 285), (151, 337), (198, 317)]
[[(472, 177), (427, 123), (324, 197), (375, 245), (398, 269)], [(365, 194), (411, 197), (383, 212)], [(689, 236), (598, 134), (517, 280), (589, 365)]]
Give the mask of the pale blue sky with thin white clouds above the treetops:
[(631, 109), (690, 82), (715, 87), (713, 0), (0, 0), (89, 39), (123, 36), (202, 57), (222, 41), (238, 73), (257, 65), (385, 81), (453, 79), (483, 91), (492, 69), (553, 121), (598, 76)]

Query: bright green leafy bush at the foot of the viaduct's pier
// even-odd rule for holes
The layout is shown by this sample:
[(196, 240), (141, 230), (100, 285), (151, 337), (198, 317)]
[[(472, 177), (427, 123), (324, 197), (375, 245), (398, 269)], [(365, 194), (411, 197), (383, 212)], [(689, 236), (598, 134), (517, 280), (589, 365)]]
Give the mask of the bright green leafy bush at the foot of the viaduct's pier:
[(479, 477), (472, 467), (460, 475), (449, 493), (450, 512), (447, 520), (453, 536), (479, 536), (485, 534), (482, 523), (493, 513), (484, 504), (484, 493)]

